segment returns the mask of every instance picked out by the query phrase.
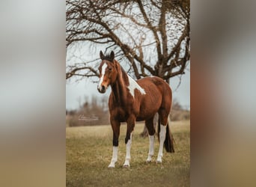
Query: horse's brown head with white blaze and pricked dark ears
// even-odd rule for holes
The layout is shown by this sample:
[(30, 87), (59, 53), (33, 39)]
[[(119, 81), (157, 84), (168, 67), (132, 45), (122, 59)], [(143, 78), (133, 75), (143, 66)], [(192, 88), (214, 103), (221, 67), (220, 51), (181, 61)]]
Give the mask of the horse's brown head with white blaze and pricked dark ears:
[(98, 85), (98, 91), (105, 93), (109, 85), (112, 85), (118, 77), (118, 63), (114, 60), (115, 53), (112, 51), (110, 55), (103, 55), (100, 51), (100, 82)]

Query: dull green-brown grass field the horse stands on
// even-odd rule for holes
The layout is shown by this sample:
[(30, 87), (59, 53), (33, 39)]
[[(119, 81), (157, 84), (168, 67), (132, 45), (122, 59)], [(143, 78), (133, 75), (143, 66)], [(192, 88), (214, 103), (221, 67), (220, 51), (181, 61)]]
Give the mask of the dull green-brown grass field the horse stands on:
[(153, 162), (146, 163), (149, 141), (141, 138), (144, 124), (132, 133), (130, 168), (122, 168), (126, 156), (126, 125), (121, 125), (118, 162), (112, 159), (111, 126), (81, 126), (66, 129), (66, 186), (189, 186), (190, 121), (171, 123), (175, 153), (164, 150), (162, 164), (156, 164), (159, 143), (155, 141)]

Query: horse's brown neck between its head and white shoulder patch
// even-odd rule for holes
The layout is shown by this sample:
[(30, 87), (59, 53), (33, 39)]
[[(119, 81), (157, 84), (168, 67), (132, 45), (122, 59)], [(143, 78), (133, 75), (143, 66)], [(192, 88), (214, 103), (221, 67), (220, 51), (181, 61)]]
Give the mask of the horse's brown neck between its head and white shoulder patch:
[(114, 94), (116, 104), (127, 105), (127, 82), (127, 73), (120, 67), (117, 81), (112, 85), (112, 92)]

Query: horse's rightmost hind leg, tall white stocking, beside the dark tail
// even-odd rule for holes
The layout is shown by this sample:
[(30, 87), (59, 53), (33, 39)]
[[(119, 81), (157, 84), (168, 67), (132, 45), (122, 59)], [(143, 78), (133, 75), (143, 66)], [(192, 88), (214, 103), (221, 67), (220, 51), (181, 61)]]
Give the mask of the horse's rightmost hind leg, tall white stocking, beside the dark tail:
[(159, 121), (160, 121), (160, 131), (159, 131), (159, 152), (156, 159), (156, 162), (162, 163), (162, 150), (163, 150), (163, 144), (165, 141), (165, 135), (166, 135), (166, 125), (168, 121), (168, 111), (165, 109), (159, 109)]

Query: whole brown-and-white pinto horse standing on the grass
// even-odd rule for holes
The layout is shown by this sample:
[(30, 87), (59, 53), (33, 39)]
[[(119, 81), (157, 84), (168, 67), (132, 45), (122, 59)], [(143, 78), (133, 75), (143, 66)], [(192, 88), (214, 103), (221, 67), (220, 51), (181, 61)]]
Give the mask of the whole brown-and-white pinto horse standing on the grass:
[(100, 51), (102, 60), (99, 67), (100, 82), (97, 90), (106, 93), (109, 86), (112, 92), (109, 95), (109, 114), (110, 123), (113, 131), (113, 152), (109, 168), (115, 168), (118, 161), (118, 139), (120, 135), (121, 122), (127, 122), (127, 135), (125, 144), (127, 155), (123, 167), (129, 168), (131, 159), (130, 149), (132, 144), (132, 132), (135, 121), (145, 121), (149, 134), (149, 152), (146, 162), (152, 161), (154, 153), (154, 135), (156, 130), (153, 126), (153, 118), (159, 114), (158, 138), (159, 152), (156, 163), (162, 163), (162, 151), (174, 153), (174, 140), (168, 126), (168, 115), (171, 111), (172, 93), (167, 82), (157, 76), (145, 77), (135, 81), (132, 79), (118, 61), (115, 60), (115, 53), (103, 55)]

